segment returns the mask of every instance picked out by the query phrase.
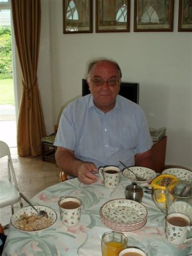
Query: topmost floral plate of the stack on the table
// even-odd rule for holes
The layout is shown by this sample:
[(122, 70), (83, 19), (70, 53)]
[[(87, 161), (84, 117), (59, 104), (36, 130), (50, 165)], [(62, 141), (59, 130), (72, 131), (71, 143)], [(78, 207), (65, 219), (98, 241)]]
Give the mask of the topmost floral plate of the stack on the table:
[(118, 225), (132, 225), (147, 218), (145, 206), (136, 201), (121, 198), (106, 202), (102, 205), (100, 212), (105, 219)]

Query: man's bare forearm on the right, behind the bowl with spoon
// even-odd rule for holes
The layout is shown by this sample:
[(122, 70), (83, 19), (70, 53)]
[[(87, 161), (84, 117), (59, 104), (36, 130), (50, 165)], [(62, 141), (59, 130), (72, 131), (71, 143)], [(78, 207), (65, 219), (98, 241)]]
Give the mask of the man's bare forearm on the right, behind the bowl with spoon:
[(135, 166), (143, 166), (143, 167), (147, 167), (154, 170), (151, 149), (144, 153), (136, 154), (134, 159), (135, 159)]

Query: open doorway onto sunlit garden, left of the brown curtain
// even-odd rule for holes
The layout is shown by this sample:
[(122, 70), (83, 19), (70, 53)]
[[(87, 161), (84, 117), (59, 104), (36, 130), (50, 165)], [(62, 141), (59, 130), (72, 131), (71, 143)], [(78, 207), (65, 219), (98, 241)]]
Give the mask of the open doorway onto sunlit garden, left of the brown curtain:
[(0, 140), (7, 143), (9, 147), (17, 147), (9, 0), (0, 0), (0, 47)]

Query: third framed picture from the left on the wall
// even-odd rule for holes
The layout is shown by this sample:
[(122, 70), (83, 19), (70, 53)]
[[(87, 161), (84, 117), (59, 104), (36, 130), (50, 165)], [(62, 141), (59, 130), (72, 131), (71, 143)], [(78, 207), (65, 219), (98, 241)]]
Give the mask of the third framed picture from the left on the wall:
[(134, 31), (173, 31), (174, 0), (134, 0)]

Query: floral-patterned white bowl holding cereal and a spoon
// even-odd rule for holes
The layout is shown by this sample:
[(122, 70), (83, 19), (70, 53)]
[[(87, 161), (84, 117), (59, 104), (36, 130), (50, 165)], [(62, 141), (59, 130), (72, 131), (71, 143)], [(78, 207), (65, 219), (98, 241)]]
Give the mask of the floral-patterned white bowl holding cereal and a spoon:
[[(48, 217), (51, 219), (51, 225), (49, 225), (49, 227), (51, 227), (52, 224), (54, 224), (55, 221), (57, 220), (56, 212), (53, 209), (51, 209), (47, 206), (44, 206), (44, 205), (34, 205), (34, 206), (38, 211), (43, 210), (43, 211), (47, 212)], [(24, 214), (24, 212), (26, 212), (26, 214), (28, 214), (28, 215), (31, 215), (32, 213), (36, 214), (36, 211), (31, 206), (26, 206), (26, 207), (23, 207), (23, 208), (19, 209), (19, 211), (15, 212), (13, 214), (12, 218), (11, 218), (11, 224), (13, 225), (13, 227), (17, 228), (20, 231), (29, 232), (29, 233), (42, 231), (42, 230), (45, 230), (45, 229), (49, 228), (49, 227), (46, 227), (46, 228), (42, 228), (40, 230), (34, 230), (34, 231), (22, 230), (21, 228), (19, 228), (17, 226), (17, 221), (20, 219), (20, 215)]]

